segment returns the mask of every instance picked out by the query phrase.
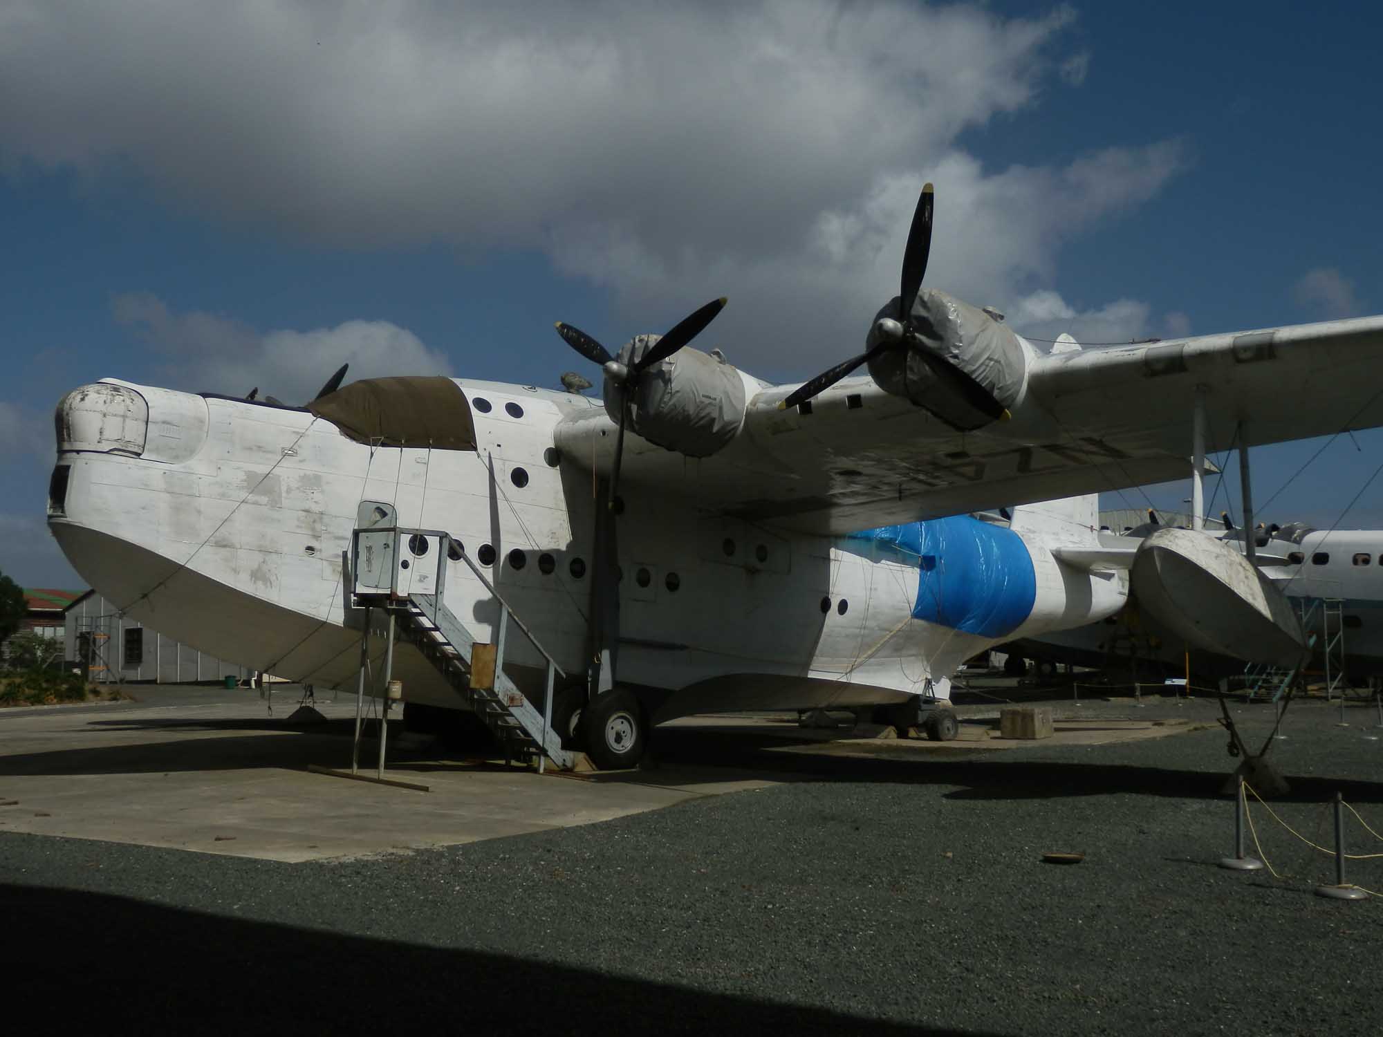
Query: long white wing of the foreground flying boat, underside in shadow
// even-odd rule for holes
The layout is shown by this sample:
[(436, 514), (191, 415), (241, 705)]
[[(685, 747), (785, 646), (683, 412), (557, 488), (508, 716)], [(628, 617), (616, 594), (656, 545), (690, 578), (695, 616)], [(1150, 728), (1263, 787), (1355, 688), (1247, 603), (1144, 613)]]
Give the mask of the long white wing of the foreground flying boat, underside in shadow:
[[(709, 458), (629, 436), (621, 495), (841, 534), (1184, 478), (1198, 393), (1212, 454), (1383, 424), (1383, 317), (1052, 355), (1029, 347), (1012, 419), (969, 433), (869, 376), (779, 409), (795, 387), (761, 389)], [(557, 429), (564, 456), (602, 473), (614, 440), (600, 409)]]

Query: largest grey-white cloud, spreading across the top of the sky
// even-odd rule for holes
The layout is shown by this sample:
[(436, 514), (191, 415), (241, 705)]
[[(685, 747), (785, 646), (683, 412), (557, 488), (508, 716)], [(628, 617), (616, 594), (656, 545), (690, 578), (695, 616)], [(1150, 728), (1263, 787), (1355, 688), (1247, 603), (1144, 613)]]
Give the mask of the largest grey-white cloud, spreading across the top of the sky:
[[(928, 282), (1012, 308), (1054, 288), (1065, 241), (1185, 166), (1176, 142), (999, 170), (958, 148), (1084, 75), (1054, 53), (1073, 18), (904, 0), (195, 17), (181, 0), (18, 0), (0, 14), (0, 162), (134, 169), (192, 212), (328, 245), (541, 250), (610, 288), (631, 332), (729, 293), (708, 336), (806, 375), (855, 351), (896, 292), (924, 178)], [(178, 318), (194, 339), (267, 348), (195, 317)]]

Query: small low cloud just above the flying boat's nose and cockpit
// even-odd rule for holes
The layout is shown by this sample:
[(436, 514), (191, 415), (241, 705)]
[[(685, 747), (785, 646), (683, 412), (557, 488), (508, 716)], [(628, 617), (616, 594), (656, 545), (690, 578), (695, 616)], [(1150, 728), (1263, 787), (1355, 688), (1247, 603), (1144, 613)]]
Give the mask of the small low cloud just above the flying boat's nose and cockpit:
[(256, 332), (219, 314), (176, 314), (148, 292), (111, 300), (115, 319), (167, 357), (171, 387), (243, 395), (259, 387), (288, 404), (311, 400), (342, 364), (347, 382), (382, 375), (445, 375), (447, 358), (389, 321), (346, 321), (307, 332)]

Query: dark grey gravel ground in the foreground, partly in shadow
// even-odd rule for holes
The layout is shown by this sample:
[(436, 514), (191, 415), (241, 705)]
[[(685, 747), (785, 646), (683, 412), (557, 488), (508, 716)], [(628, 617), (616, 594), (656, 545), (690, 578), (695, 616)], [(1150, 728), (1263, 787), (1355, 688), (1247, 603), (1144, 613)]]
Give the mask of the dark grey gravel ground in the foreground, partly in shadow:
[[(1134, 715), (1087, 704), (1091, 716)], [(1383, 832), (1373, 713), (1308, 702), (1274, 803), (1329, 843), (1336, 790)], [(1209, 701), (1140, 719), (1210, 720)], [(1268, 711), (1242, 708), (1261, 738)], [(1218, 730), (917, 759), (667, 731), (664, 766), (801, 773), (757, 792), (455, 849), (275, 864), (0, 834), (4, 964), (47, 1030), (1379, 1033), (1383, 900), (1216, 867)], [(1355, 824), (1353, 849), (1383, 850)], [(1369, 845), (1366, 845), (1369, 843)], [(1083, 850), (1076, 866), (1044, 850)], [(1250, 843), (1252, 852), (1252, 843)], [(1383, 860), (1353, 864), (1383, 892)]]

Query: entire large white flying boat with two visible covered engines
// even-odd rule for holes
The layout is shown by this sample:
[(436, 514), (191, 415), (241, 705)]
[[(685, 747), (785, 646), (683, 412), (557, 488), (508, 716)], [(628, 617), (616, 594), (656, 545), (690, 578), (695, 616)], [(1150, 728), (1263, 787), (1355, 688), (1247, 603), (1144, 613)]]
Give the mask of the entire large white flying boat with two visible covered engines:
[[(873, 705), (953, 737), (965, 658), (1126, 600), (1088, 495), (1202, 471), (1206, 440), (1383, 424), (1383, 318), (1048, 355), (921, 288), (931, 218), (928, 185), (866, 351), (801, 386), (687, 347), (723, 300), (617, 355), (557, 325), (603, 402), (342, 372), (306, 407), (83, 386), (58, 405), (48, 525), (130, 615), (318, 686), (393, 644), (369, 637), (378, 559), (353, 539), (383, 531), (386, 604), (416, 626), (391, 660), (405, 712), (523, 726), (559, 762), (581, 741), (628, 766), (651, 725), (714, 709)], [(1054, 498), (1073, 499), (1032, 505)], [(1030, 506), (947, 517), (999, 505)], [(443, 593), (398, 592), (409, 564)], [(509, 617), (530, 637), (480, 675)], [(552, 711), (539, 733), (508, 715), (524, 702)]]

